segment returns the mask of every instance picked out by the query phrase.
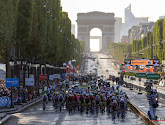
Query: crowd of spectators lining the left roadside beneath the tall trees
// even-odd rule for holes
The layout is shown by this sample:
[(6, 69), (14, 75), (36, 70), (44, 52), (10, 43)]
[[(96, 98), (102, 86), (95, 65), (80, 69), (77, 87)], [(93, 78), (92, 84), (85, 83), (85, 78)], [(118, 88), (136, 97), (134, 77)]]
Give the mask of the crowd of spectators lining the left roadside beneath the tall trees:
[[(64, 85), (64, 81), (62, 80), (46, 80), (46, 81), (41, 81), (39, 84), (39, 89), (38, 86), (30, 87), (30, 86), (21, 86), (19, 88), (14, 87), (13, 88), (13, 98), (14, 98), (14, 103), (15, 104), (20, 104), (22, 102), (26, 102), (29, 100), (33, 100), (43, 92), (47, 92), (50, 89), (55, 91), (56, 87), (60, 87)], [(37, 84), (36, 84), (37, 85)], [(11, 90), (10, 88), (6, 88), (5, 86), (0, 87), (0, 97), (4, 96), (11, 96)]]

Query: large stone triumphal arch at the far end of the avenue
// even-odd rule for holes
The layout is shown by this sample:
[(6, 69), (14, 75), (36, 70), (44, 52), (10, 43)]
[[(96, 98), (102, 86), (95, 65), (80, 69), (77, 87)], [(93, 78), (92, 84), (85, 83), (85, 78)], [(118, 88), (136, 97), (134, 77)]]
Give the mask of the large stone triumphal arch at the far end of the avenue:
[(77, 14), (78, 39), (85, 41), (85, 52), (90, 51), (90, 31), (99, 28), (102, 31), (102, 51), (108, 50), (108, 42), (114, 42), (114, 13), (88, 12)]

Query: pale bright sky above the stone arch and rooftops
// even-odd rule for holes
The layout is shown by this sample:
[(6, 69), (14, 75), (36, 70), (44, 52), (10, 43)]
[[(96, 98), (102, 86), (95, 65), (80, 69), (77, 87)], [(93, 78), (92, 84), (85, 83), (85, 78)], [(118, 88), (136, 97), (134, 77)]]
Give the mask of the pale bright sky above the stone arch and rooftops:
[(149, 17), (150, 21), (156, 21), (159, 16), (165, 15), (165, 0), (61, 0), (61, 4), (73, 24), (80, 12), (113, 12), (116, 17), (124, 18), (124, 8), (129, 4), (136, 17)]

